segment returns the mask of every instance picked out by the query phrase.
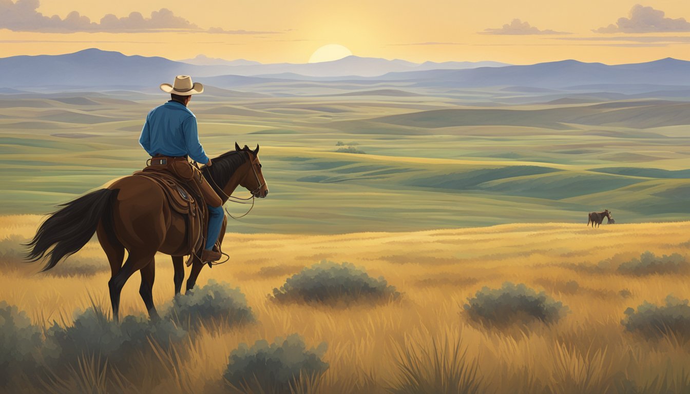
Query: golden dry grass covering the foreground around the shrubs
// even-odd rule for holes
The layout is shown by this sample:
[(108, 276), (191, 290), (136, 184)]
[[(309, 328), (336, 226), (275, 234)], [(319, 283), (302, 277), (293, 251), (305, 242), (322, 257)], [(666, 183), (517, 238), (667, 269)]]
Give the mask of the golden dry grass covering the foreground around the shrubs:
[[(8, 235), (30, 237), (38, 220), (30, 215), (3, 217), (0, 228)], [(225, 389), (221, 377), (228, 355), (240, 343), (272, 342), (299, 333), (308, 348), (327, 342), (324, 361), (330, 363), (322, 380), (300, 392), (385, 393), (400, 386), (401, 371), (411, 366), (410, 360), (440, 357), (445, 366), (457, 364), (471, 371), (476, 365), (480, 392), (623, 393), (619, 386), (629, 380), (646, 388), (645, 393), (661, 393), (664, 387), (680, 393), (688, 389), (690, 346), (674, 337), (647, 341), (625, 332), (620, 320), (626, 308), (645, 300), (660, 303), (669, 293), (688, 297), (690, 278), (624, 276), (615, 270), (595, 273), (577, 266), (604, 259), (620, 264), (646, 250), (690, 258), (689, 240), (687, 221), (597, 229), (553, 223), (327, 236), (228, 233), (224, 249), (232, 259), (204, 268), (197, 286), (210, 278), (239, 286), (257, 323), (202, 328), (197, 339), (168, 353), (157, 348), (155, 359), (132, 370), (156, 371), (156, 379), (116, 379), (117, 373), (112, 373), (108, 384), (140, 382), (142, 392), (152, 393), (220, 392)], [(79, 256), (100, 257), (107, 265), (97, 242)], [(382, 275), (396, 286), (402, 299), (349, 308), (277, 304), (269, 299), (287, 276), (321, 259), (364, 266), (369, 275)], [(0, 277), (0, 299), (28, 311), (39, 324), (60, 317), (69, 322), (75, 310), (89, 305), (90, 296), (109, 304), (108, 279), (109, 273), (52, 277), (15, 271)], [(569, 281), (578, 286), (566, 286)], [(495, 288), (503, 282), (545, 290), (571, 313), (551, 326), (535, 323), (497, 330), (470, 322), (462, 313), (466, 299), (483, 286)], [(138, 286), (136, 275), (124, 288), (121, 313), (144, 313)], [(624, 289), (628, 297), (619, 294)], [(154, 287), (159, 309), (172, 293), (172, 264), (169, 257), (159, 255)], [(453, 358), (455, 348), (464, 353), (462, 362), (457, 355)], [(81, 367), (89, 365), (86, 360)], [(105, 378), (87, 371), (81, 379), (102, 385)]]

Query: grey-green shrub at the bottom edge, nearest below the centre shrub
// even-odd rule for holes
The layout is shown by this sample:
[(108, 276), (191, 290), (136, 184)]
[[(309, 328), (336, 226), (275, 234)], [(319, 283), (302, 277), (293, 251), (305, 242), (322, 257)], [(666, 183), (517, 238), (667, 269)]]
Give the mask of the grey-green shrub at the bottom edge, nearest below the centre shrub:
[(228, 384), (236, 389), (257, 393), (290, 393), (304, 380), (317, 380), (328, 369), (321, 357), (326, 353), (326, 342), (306, 350), (297, 334), (286, 339), (276, 338), (268, 345), (257, 341), (248, 348), (240, 344), (230, 353), (224, 374)]

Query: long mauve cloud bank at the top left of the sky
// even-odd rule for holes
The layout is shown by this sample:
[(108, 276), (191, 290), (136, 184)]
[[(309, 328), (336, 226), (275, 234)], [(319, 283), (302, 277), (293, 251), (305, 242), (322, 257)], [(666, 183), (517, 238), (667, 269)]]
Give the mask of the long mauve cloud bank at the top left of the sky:
[[(0, 0), (0, 29), (15, 32), (161, 32), (182, 30), (188, 32), (210, 32), (224, 34), (256, 34), (246, 30), (224, 30), (210, 28), (204, 30), (183, 17), (178, 17), (167, 8), (151, 12), (144, 17), (140, 12), (131, 12), (126, 17), (107, 14), (96, 23), (77, 11), (70, 12), (62, 19), (58, 15), (48, 17), (38, 11), (40, 0)], [(261, 32), (272, 33), (272, 32)]]

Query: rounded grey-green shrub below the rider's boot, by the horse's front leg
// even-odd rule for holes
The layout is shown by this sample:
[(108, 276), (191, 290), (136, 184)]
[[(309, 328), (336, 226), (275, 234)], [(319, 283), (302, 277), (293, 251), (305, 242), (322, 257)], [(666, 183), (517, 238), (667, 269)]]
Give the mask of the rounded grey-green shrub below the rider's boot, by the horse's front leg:
[(198, 328), (204, 323), (233, 325), (254, 321), (239, 287), (230, 288), (213, 279), (190, 294), (177, 295), (166, 315), (185, 328)]

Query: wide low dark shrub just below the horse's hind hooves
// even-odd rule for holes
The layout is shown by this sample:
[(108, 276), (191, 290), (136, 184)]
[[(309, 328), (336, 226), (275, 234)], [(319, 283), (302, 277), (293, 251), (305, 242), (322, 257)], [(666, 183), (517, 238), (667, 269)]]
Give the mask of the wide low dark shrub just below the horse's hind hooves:
[(46, 331), (46, 345), (57, 350), (60, 364), (74, 363), (83, 355), (125, 361), (132, 352), (150, 347), (149, 340), (168, 348), (187, 336), (186, 331), (166, 319), (150, 321), (144, 316), (126, 316), (114, 322), (99, 306), (77, 315), (72, 326), (54, 323)]

